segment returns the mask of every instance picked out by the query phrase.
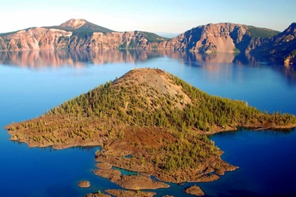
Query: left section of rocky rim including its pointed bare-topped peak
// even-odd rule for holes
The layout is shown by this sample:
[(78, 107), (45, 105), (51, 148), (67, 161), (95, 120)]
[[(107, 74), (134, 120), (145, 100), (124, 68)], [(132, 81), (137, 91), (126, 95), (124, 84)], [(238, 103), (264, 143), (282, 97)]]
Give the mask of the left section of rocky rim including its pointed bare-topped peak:
[[(114, 32), (83, 19), (0, 34), (0, 51), (30, 49), (152, 49), (167, 39), (150, 32)], [(154, 46), (155, 48), (155, 46)]]

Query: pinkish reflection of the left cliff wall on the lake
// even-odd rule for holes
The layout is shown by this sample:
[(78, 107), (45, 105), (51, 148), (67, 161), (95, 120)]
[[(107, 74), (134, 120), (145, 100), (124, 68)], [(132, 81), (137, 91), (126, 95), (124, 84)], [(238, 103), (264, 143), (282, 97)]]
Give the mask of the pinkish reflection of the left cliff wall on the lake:
[(25, 68), (42, 68), (44, 66), (72, 65), (85, 66), (87, 63), (101, 65), (104, 63), (135, 63), (146, 61), (149, 56), (160, 56), (152, 51), (66, 51), (66, 50), (32, 50), (6, 51), (0, 53), (0, 64), (18, 65)]

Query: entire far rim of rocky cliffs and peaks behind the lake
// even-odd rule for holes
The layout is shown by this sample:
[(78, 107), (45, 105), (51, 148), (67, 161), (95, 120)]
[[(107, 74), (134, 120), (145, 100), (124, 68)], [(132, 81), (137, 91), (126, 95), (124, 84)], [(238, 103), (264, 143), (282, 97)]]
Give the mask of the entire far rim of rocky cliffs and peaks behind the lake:
[(241, 52), (286, 57), (294, 63), (296, 23), (284, 32), (233, 23), (202, 25), (166, 39), (149, 32), (114, 32), (87, 20), (0, 34), (0, 51), (29, 49), (170, 49), (202, 53)]

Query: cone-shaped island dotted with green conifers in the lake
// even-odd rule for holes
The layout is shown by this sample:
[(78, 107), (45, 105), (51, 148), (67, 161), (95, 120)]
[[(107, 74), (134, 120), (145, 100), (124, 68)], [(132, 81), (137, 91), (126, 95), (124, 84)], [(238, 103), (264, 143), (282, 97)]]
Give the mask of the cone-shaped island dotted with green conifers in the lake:
[[(296, 127), (296, 117), (262, 113), (244, 101), (210, 96), (164, 70), (136, 68), (5, 129), (11, 140), (30, 147), (100, 146), (94, 173), (126, 189), (106, 193), (154, 196), (141, 190), (169, 187), (164, 182), (212, 182), (237, 169), (221, 159), (223, 151), (207, 135), (238, 127), (290, 129)], [(204, 194), (198, 186), (186, 191), (190, 190)]]

